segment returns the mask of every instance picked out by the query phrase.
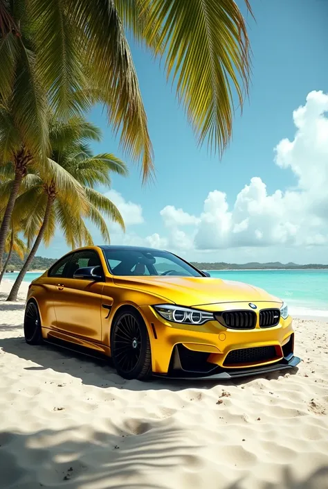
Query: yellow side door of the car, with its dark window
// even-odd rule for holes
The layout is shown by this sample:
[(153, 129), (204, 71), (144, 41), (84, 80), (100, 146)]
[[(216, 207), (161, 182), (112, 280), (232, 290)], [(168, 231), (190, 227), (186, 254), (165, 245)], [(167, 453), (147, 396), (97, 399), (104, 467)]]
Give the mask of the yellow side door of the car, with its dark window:
[(62, 277), (57, 278), (53, 295), (56, 329), (72, 336), (91, 341), (101, 341), (101, 299), (104, 281), (75, 279), (74, 273), (84, 266), (100, 266), (100, 257), (95, 250), (81, 250), (71, 255)]

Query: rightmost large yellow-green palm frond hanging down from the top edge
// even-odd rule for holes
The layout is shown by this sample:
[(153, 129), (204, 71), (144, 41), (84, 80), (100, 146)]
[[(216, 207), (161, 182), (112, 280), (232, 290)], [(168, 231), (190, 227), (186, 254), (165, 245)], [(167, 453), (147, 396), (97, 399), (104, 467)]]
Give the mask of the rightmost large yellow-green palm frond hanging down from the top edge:
[[(246, 6), (250, 10), (248, 0)], [(176, 81), (199, 144), (221, 153), (232, 132), (233, 93), (239, 103), (248, 91), (250, 49), (246, 22), (234, 0), (143, 0), (149, 8), (145, 36), (158, 30), (158, 53), (164, 46), (167, 78)]]

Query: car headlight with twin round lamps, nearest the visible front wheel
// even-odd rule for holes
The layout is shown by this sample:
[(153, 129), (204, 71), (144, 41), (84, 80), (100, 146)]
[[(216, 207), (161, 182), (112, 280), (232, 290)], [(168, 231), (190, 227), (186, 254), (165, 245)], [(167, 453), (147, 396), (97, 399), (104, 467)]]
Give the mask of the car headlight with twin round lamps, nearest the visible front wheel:
[(153, 306), (164, 319), (172, 323), (183, 323), (187, 325), (202, 325), (206, 321), (214, 320), (215, 317), (211, 312), (198, 311), (189, 307), (174, 306), (171, 304), (161, 304)]

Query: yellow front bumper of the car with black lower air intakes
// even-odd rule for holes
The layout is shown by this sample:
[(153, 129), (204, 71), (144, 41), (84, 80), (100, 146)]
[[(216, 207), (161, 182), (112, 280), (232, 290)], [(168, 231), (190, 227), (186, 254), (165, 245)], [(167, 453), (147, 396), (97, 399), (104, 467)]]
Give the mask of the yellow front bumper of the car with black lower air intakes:
[(230, 379), (293, 368), (300, 362), (293, 355), (290, 317), (280, 318), (274, 327), (236, 330), (216, 320), (203, 325), (169, 323), (150, 306), (139, 311), (148, 327), (154, 375)]

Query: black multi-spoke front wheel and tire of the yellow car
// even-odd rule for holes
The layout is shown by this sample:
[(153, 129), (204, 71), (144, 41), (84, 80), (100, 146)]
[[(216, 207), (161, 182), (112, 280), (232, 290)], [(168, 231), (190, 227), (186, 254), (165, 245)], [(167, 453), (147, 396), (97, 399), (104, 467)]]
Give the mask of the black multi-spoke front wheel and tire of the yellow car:
[(111, 327), (111, 358), (125, 379), (152, 376), (152, 352), (145, 321), (135, 309), (122, 309)]

